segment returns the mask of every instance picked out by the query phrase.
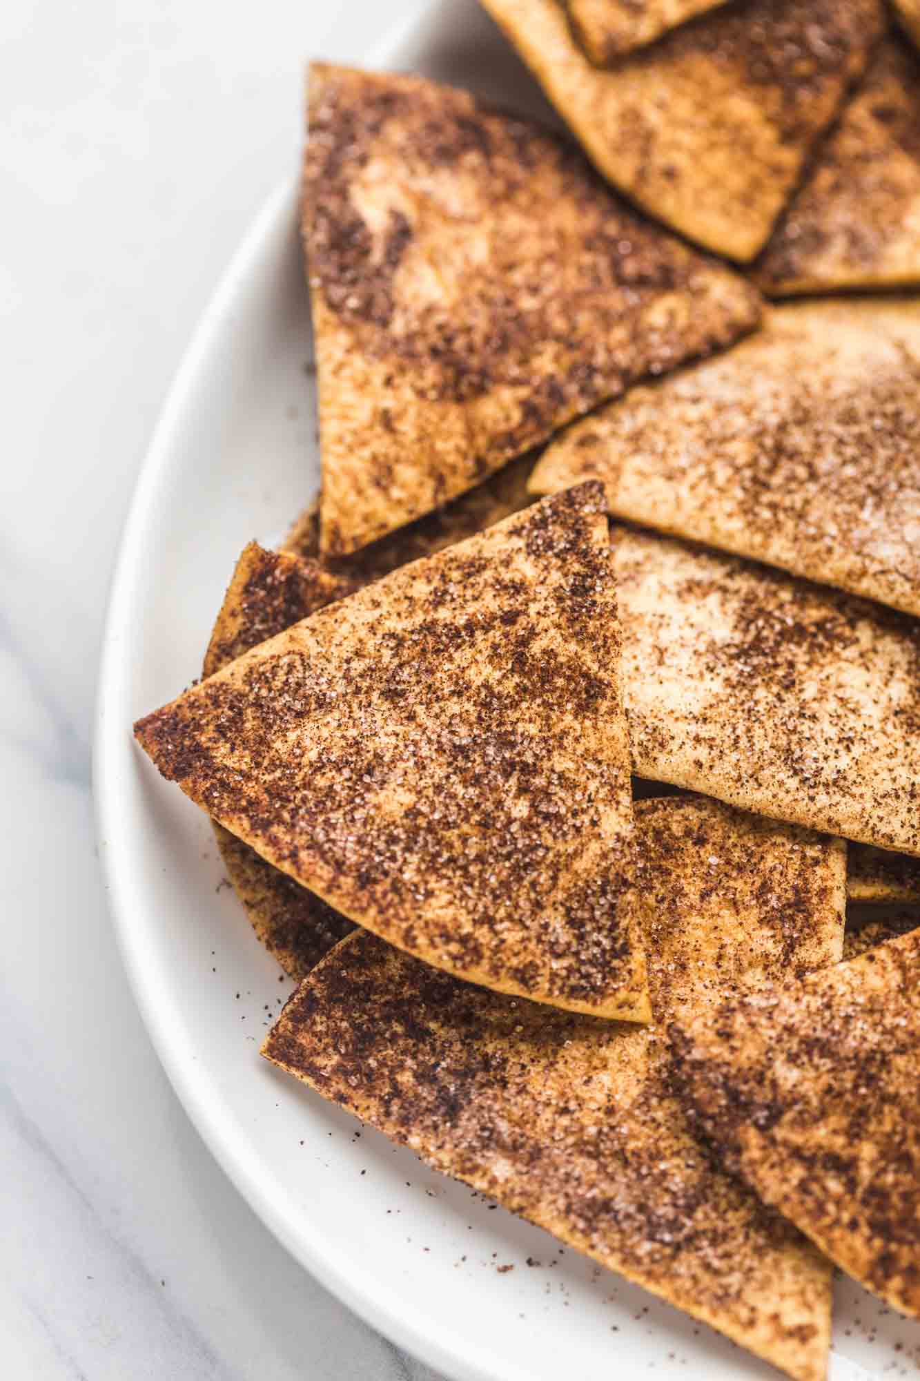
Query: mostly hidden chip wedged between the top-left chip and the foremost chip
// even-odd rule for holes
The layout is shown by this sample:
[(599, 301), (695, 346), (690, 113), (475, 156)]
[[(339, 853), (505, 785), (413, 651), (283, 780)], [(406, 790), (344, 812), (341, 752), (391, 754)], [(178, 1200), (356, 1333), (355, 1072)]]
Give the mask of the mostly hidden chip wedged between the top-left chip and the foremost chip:
[(372, 541), (361, 551), (352, 551), (348, 557), (320, 558), (319, 503), (315, 503), (300, 515), (285, 537), (282, 550), (322, 561), (326, 570), (348, 580), (356, 588), (369, 580), (388, 576), (391, 570), (410, 561), (434, 557), (437, 551), (453, 547), (454, 543), (493, 528), (503, 518), (526, 508), (533, 503), (533, 494), (528, 490), (532, 470), (533, 456), (521, 456), (443, 508), (417, 518), (406, 528), (398, 528), (396, 532)]

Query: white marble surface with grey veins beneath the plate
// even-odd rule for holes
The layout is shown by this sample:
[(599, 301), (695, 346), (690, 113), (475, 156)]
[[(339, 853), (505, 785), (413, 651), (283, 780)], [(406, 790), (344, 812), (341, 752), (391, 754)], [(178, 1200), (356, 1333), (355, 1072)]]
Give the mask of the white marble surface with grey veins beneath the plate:
[(406, 0), (0, 6), (0, 1375), (421, 1381), (225, 1181), (127, 990), (90, 720), (135, 474), (182, 347), (296, 157), (301, 59)]

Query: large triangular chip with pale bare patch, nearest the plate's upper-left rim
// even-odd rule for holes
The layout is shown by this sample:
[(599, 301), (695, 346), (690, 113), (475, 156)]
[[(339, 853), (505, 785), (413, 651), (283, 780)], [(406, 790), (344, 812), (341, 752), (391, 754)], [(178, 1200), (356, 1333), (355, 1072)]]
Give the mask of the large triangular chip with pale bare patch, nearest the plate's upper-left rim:
[(311, 69), (304, 239), (329, 557), (760, 315), (568, 139), (414, 76)]

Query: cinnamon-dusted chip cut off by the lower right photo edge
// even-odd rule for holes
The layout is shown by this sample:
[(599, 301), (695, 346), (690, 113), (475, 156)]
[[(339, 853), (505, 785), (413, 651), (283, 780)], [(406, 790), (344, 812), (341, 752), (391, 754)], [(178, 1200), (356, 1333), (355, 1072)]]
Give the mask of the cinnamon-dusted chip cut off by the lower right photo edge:
[(673, 1036), (695, 1116), (761, 1199), (920, 1316), (920, 931)]

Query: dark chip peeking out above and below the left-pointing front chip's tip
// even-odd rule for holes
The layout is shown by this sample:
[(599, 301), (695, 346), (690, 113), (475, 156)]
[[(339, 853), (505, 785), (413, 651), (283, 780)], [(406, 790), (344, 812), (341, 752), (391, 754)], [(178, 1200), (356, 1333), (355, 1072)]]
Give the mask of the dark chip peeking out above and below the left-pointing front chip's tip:
[[(243, 550), (204, 655), (204, 675), (275, 637), (323, 605), (341, 599), (349, 586), (316, 562), (265, 551), (256, 541)], [(304, 978), (351, 921), (286, 873), (243, 844), (215, 820), (214, 838), (227, 877), (243, 903), (256, 935), (290, 978)]]

